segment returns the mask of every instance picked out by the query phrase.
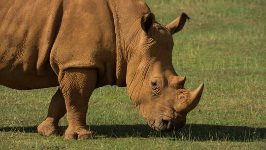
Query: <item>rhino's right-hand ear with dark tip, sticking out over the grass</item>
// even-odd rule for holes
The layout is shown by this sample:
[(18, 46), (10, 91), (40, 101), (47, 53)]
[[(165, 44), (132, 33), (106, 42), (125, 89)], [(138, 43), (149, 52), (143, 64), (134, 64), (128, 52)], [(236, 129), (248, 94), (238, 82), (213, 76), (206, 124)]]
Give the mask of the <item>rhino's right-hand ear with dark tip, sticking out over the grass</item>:
[(166, 25), (166, 29), (173, 35), (182, 30), (186, 21), (189, 19), (191, 18), (189, 18), (187, 14), (182, 13), (181, 16), (179, 16), (174, 21)]

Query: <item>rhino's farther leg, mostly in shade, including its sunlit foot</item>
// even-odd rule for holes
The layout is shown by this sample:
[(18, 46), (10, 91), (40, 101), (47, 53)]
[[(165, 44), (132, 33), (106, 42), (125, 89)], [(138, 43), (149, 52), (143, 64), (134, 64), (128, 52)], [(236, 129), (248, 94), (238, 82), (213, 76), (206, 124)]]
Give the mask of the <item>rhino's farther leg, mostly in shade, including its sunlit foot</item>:
[(66, 114), (65, 99), (60, 89), (52, 97), (46, 119), (38, 126), (38, 133), (42, 136), (62, 135), (62, 129), (59, 128), (59, 120)]

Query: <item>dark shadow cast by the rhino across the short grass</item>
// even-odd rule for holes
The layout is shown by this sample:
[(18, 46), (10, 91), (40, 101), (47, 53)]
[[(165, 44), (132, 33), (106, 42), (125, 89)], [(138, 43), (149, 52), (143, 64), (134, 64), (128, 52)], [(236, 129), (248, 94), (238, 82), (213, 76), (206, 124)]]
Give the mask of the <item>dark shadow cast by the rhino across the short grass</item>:
[[(67, 126), (61, 126), (66, 130)], [(151, 138), (164, 137), (169, 140), (186, 141), (232, 141), (253, 142), (266, 139), (266, 128), (253, 128), (246, 126), (223, 126), (208, 124), (187, 124), (175, 132), (157, 132), (148, 125), (91, 125), (97, 131), (96, 138)], [(0, 127), (0, 132), (26, 132), (36, 133), (37, 126), (31, 127)]]

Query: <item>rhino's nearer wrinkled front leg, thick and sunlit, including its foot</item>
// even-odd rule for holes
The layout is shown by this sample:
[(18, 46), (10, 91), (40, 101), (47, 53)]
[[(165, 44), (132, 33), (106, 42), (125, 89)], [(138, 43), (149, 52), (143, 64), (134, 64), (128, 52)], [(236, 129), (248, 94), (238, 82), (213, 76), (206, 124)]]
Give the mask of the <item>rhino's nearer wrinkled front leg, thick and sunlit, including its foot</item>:
[(91, 139), (86, 125), (86, 113), (90, 96), (97, 82), (95, 69), (68, 69), (61, 73), (60, 89), (66, 102), (68, 127), (66, 139)]

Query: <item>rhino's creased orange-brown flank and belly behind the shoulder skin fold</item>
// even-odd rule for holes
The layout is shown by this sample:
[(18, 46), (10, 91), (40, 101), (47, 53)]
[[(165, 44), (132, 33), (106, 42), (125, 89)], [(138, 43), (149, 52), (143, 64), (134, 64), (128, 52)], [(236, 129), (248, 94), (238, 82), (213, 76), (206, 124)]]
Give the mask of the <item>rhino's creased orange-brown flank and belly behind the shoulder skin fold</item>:
[(61, 0), (0, 1), (0, 84), (15, 89), (58, 85), (49, 55), (60, 18)]

